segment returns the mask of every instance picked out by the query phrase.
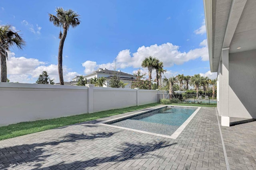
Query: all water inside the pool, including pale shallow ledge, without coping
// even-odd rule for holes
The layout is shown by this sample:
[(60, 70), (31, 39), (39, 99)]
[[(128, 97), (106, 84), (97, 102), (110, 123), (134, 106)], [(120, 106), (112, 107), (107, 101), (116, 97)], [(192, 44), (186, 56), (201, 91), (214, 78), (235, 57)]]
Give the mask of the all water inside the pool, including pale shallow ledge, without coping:
[(164, 107), (108, 124), (163, 135), (172, 135), (196, 109), (197, 107)]

